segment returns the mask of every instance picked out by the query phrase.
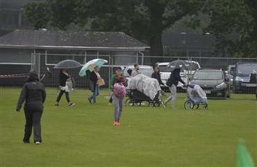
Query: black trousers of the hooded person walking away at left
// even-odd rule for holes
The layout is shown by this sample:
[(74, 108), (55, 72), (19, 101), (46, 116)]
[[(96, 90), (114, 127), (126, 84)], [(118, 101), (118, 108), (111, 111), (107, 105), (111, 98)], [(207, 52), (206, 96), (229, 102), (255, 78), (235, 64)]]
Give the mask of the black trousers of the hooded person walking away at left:
[(43, 114), (43, 105), (42, 103), (33, 103), (24, 105), (24, 112), (26, 117), (25, 133), (24, 133), (24, 143), (29, 143), (31, 137), (32, 128), (34, 135), (34, 142), (40, 141), (41, 138), (41, 117)]

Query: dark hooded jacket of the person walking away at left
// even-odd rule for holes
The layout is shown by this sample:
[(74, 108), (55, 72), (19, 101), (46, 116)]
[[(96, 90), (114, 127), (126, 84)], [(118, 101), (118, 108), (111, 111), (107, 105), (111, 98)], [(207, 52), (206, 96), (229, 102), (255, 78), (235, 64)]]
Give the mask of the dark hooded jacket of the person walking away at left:
[(44, 103), (46, 97), (44, 85), (40, 82), (38, 74), (35, 71), (29, 71), (27, 82), (22, 87), (19, 96), (16, 111), (22, 108), (24, 100), (26, 100), (25, 105), (38, 105)]

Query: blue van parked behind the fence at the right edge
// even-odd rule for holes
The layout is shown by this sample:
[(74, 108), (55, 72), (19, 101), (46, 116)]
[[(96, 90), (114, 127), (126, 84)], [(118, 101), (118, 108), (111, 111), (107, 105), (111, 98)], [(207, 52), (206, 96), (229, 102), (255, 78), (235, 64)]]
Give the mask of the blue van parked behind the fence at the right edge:
[(254, 93), (257, 86), (256, 72), (257, 62), (238, 62), (235, 64), (235, 75), (233, 76), (233, 92), (235, 94), (239, 92)]

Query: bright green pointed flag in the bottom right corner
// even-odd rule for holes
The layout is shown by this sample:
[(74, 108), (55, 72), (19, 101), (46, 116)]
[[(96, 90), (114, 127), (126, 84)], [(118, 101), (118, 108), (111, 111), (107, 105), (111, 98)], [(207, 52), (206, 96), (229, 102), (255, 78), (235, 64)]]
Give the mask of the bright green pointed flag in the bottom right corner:
[(254, 167), (254, 161), (244, 146), (244, 141), (240, 139), (238, 145), (238, 167)]

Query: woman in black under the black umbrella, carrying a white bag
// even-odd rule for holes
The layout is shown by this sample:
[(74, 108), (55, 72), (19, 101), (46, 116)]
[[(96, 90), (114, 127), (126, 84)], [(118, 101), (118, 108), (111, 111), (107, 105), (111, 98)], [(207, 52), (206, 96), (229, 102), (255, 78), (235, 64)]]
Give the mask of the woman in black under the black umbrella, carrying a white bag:
[(59, 86), (60, 86), (60, 93), (56, 99), (56, 106), (59, 105), (59, 102), (60, 102), (60, 98), (62, 98), (63, 94), (65, 94), (66, 96), (66, 100), (67, 100), (67, 103), (69, 103), (69, 106), (72, 107), (75, 105), (75, 103), (71, 103), (70, 100), (69, 100), (69, 87), (67, 86), (66, 82), (70, 81), (70, 75), (67, 71), (67, 69), (60, 69), (60, 73), (59, 73)]

